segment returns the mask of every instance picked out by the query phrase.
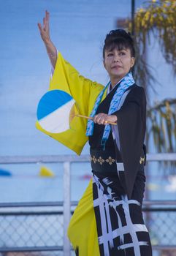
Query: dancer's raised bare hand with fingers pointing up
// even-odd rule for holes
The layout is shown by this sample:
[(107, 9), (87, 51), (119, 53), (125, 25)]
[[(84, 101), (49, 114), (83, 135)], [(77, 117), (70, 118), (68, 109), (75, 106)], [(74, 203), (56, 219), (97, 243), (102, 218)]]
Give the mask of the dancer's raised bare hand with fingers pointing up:
[(38, 23), (40, 35), (42, 37), (42, 40), (45, 43), (50, 42), (50, 26), (49, 26), (49, 20), (50, 20), (50, 13), (45, 11), (45, 17), (43, 18), (43, 26), (41, 23)]

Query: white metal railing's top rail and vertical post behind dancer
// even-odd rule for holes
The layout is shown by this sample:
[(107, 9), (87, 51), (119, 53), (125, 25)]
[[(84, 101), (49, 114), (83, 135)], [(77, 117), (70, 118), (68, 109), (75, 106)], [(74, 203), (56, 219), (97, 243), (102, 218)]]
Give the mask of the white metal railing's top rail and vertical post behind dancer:
[[(70, 164), (71, 162), (89, 162), (89, 155), (77, 157), (75, 155), (53, 155), (53, 156), (4, 156), (0, 157), (0, 164), (37, 164), (37, 163), (56, 163), (64, 164), (64, 255), (70, 255), (69, 239), (66, 236), (69, 225), (71, 205), (70, 205)], [(147, 161), (176, 161), (176, 154), (147, 154)]]

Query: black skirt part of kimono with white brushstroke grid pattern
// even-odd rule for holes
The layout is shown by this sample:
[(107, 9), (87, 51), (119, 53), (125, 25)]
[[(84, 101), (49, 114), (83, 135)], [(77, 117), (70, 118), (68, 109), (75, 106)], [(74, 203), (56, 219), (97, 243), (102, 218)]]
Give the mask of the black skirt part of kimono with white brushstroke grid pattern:
[(122, 195), (118, 175), (93, 171), (93, 207), (101, 256), (151, 256), (142, 206)]

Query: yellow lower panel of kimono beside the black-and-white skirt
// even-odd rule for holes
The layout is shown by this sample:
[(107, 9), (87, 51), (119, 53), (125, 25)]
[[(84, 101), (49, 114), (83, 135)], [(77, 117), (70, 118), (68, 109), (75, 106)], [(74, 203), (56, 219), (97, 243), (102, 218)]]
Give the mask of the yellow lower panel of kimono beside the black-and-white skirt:
[(91, 180), (69, 222), (68, 237), (79, 256), (99, 256), (92, 190)]

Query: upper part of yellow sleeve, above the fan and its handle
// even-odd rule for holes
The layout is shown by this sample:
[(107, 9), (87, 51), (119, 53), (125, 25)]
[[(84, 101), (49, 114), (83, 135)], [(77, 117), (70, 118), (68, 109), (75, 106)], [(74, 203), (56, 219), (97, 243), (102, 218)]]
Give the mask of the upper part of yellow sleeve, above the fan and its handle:
[[(88, 116), (91, 112), (90, 97), (95, 100), (104, 86), (84, 78), (66, 61), (61, 53), (58, 53), (53, 78), (50, 80), (50, 90), (60, 89), (72, 95), (76, 101), (77, 110), (80, 114)], [(93, 101), (91, 99), (91, 102)]]

